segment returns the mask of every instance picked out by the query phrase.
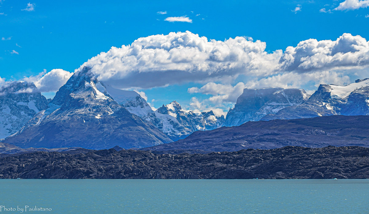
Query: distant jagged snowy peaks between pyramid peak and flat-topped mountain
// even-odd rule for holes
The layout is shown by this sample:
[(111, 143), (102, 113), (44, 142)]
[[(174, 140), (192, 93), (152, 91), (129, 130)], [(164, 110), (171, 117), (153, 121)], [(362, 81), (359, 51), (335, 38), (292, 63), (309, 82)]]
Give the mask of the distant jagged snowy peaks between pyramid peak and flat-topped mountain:
[(198, 130), (212, 130), (220, 127), (224, 123), (224, 116), (217, 117), (213, 111), (194, 112), (184, 110), (177, 101), (156, 109), (157, 113), (170, 115), (175, 118), (183, 127), (189, 130), (188, 134)]

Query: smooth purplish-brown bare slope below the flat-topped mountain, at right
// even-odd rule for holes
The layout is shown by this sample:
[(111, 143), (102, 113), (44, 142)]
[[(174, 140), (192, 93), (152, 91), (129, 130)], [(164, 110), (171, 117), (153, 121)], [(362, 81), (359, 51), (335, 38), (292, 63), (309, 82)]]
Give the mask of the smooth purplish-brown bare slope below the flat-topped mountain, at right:
[(169, 144), (142, 150), (167, 153), (272, 149), (284, 146), (369, 147), (369, 116), (323, 116), (293, 120), (247, 122), (241, 126), (196, 131)]

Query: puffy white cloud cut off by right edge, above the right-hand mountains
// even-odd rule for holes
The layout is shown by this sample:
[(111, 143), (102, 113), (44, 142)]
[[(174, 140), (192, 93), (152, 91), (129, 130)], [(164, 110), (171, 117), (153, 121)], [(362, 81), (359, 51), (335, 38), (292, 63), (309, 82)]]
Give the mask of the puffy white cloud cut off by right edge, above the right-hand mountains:
[(361, 36), (343, 34), (335, 41), (308, 39), (289, 46), (280, 59), (282, 70), (298, 73), (352, 69), (369, 65), (369, 42)]

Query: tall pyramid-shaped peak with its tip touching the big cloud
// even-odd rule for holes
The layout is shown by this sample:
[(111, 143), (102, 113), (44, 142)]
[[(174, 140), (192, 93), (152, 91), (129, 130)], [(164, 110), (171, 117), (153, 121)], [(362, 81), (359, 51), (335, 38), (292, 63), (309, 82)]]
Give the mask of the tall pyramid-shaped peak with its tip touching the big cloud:
[(59, 89), (49, 108), (38, 112), (3, 143), (22, 148), (103, 149), (115, 145), (141, 148), (171, 141), (153, 124), (114, 101), (85, 67)]

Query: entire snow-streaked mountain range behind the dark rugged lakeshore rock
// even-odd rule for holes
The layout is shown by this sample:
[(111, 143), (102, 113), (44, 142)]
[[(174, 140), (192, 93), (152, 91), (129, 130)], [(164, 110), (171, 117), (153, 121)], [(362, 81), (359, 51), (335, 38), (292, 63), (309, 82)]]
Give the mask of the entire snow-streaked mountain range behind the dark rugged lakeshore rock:
[[(137, 92), (100, 82), (88, 67), (73, 74), (52, 100), (27, 82), (3, 85), (0, 99), (0, 137), (5, 138), (1, 143), (19, 148), (118, 145), (163, 151), (237, 151), (285, 145), (322, 147), (331, 145), (327, 136), (336, 140), (334, 145), (366, 146), (366, 131), (361, 127), (355, 129), (364, 136), (351, 126), (347, 127), (352, 128), (350, 136), (334, 131), (344, 129), (334, 120), (362, 124), (366, 117), (319, 117), (369, 115), (369, 79), (346, 86), (320, 85), (311, 96), (295, 88), (245, 88), (225, 118), (213, 111), (184, 110), (176, 101), (153, 110)], [(310, 117), (317, 118), (291, 120)], [(312, 128), (323, 123), (332, 128)]]

